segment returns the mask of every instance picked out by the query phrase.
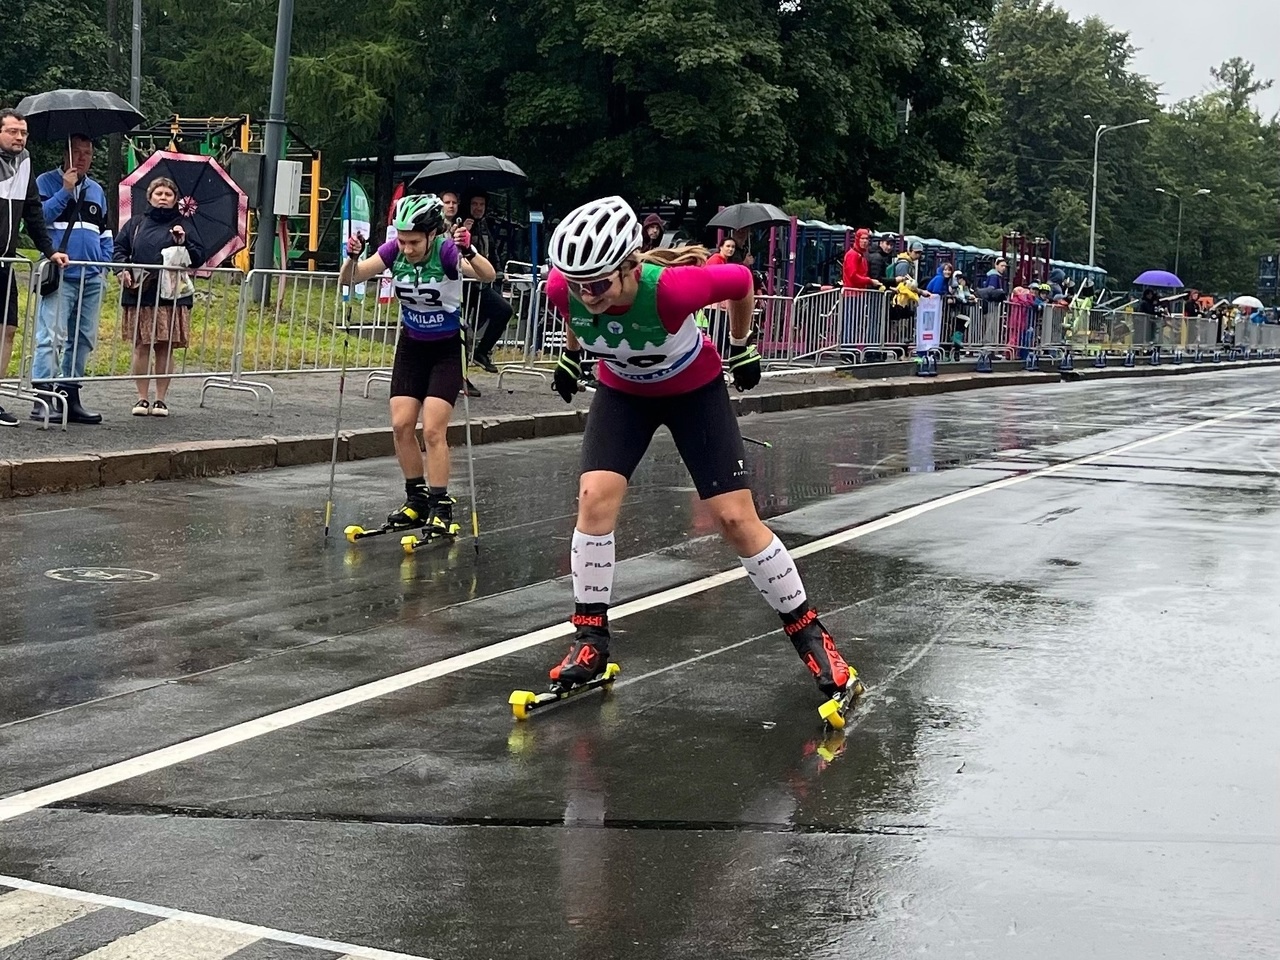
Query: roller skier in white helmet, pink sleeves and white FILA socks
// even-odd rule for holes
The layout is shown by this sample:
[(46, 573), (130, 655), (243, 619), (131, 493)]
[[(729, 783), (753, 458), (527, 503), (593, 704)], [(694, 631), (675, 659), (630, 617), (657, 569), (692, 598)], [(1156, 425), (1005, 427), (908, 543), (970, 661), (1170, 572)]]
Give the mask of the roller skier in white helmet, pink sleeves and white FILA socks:
[(627, 483), (659, 426), (667, 426), (723, 538), (753, 586), (827, 698), (820, 713), (841, 726), (861, 690), (805, 595), (787, 548), (755, 512), (742, 466), (742, 435), (724, 389), (723, 364), (694, 315), (728, 301), (728, 367), (740, 390), (760, 383), (751, 337), (751, 273), (737, 264), (704, 266), (703, 247), (641, 252), (635, 211), (621, 197), (596, 200), (552, 234), (547, 298), (566, 320), (567, 349), (554, 387), (568, 403), (579, 389), (584, 349), (598, 357), (599, 388), (582, 438), (573, 530), (573, 645), (550, 671), (558, 687), (604, 673), (614, 540)]

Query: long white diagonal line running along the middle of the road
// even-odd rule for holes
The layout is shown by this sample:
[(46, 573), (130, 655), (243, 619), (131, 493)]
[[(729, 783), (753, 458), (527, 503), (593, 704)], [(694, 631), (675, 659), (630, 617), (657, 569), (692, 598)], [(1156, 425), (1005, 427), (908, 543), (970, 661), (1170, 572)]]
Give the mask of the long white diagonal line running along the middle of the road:
[[(861, 524), (849, 530), (842, 530), (829, 536), (823, 536), (812, 543), (804, 544), (803, 547), (796, 547), (791, 550), (792, 557), (809, 557), (814, 553), (820, 553), (823, 550), (829, 550), (832, 547), (840, 547), (842, 544), (858, 540), (863, 536), (870, 536), (882, 530), (888, 530), (890, 527), (897, 526), (899, 524), (905, 524), (909, 520), (915, 520), (925, 513), (932, 513), (936, 509), (942, 509), (943, 507), (951, 507), (956, 503), (963, 503), (964, 500), (972, 499), (974, 497), (983, 497), (989, 493), (996, 493), (998, 490), (1006, 490), (1010, 486), (1016, 486), (1018, 484), (1025, 484), (1030, 480), (1037, 480), (1044, 476), (1053, 476), (1056, 474), (1062, 474), (1076, 467), (1088, 466), (1091, 463), (1097, 463), (1100, 461), (1107, 460), (1108, 457), (1117, 457), (1129, 453), (1143, 447), (1149, 447), (1155, 443), (1161, 443), (1164, 440), (1172, 439), (1175, 436), (1181, 436), (1184, 434), (1194, 433), (1197, 430), (1203, 430), (1210, 426), (1216, 426), (1219, 424), (1225, 424), (1231, 420), (1238, 420), (1240, 417), (1251, 416), (1263, 410), (1270, 410), (1280, 404), (1280, 401), (1272, 401), (1270, 403), (1262, 403), (1254, 407), (1247, 407), (1244, 410), (1238, 410), (1234, 413), (1225, 413), (1222, 416), (1211, 417), (1208, 420), (1201, 420), (1194, 424), (1187, 424), (1185, 426), (1179, 426), (1174, 430), (1166, 430), (1165, 433), (1156, 434), (1153, 436), (1147, 436), (1142, 440), (1134, 440), (1132, 443), (1115, 447), (1112, 449), (1102, 451), (1100, 453), (1091, 453), (1084, 457), (1076, 457), (1074, 460), (1062, 461), (1060, 463), (1053, 463), (1047, 467), (1038, 467), (1025, 474), (1018, 474), (1015, 476), (1002, 477), (1000, 480), (993, 480), (989, 484), (983, 484), (980, 486), (973, 486), (968, 490), (960, 490), (957, 493), (947, 494), (946, 497), (940, 497), (933, 500), (927, 500), (919, 503), (914, 507), (906, 507), (896, 513), (890, 513), (888, 516), (881, 517), (879, 520), (873, 520), (868, 524)], [(732, 570), (726, 570), (719, 573), (712, 573), (710, 576), (703, 577), (701, 580), (694, 580), (687, 584), (681, 584), (678, 586), (669, 588), (667, 590), (660, 590), (655, 594), (649, 594), (648, 596), (641, 596), (636, 600), (630, 600), (627, 603), (618, 604), (609, 611), (609, 617), (613, 621), (622, 620), (634, 613), (641, 613), (644, 611), (654, 609), (655, 607), (662, 607), (668, 603), (675, 603), (676, 600), (682, 600), (689, 596), (696, 596), (698, 594), (707, 593), (708, 590), (714, 590), (718, 586), (724, 586), (726, 584), (732, 584), (735, 580), (742, 580), (746, 576), (746, 571), (739, 566)], [(269, 713), (265, 717), (259, 717), (256, 719), (244, 721), (242, 723), (236, 723), (230, 727), (214, 731), (212, 733), (205, 733), (191, 740), (184, 740), (172, 746), (165, 746), (159, 750), (152, 750), (151, 753), (141, 754), (133, 756), (128, 760), (120, 760), (118, 763), (101, 767), (96, 771), (90, 771), (87, 773), (81, 773), (74, 777), (68, 777), (67, 780), (58, 781), (55, 783), (49, 783), (44, 787), (36, 787), (35, 790), (28, 790), (20, 794), (14, 794), (0, 800), (0, 823), (5, 820), (12, 820), (15, 817), (20, 817), (24, 813), (31, 813), (32, 810), (38, 810), (49, 804), (61, 803), (64, 800), (70, 800), (76, 796), (82, 796), (90, 794), (95, 790), (102, 790), (104, 787), (120, 783), (125, 780), (132, 780), (134, 777), (143, 776), (146, 773), (154, 773), (168, 767), (173, 767), (179, 763), (195, 759), (197, 756), (204, 756), (218, 750), (224, 750), (228, 746), (234, 746), (236, 744), (242, 744), (246, 740), (253, 740), (256, 737), (271, 733), (278, 730), (284, 730), (292, 727), (297, 723), (303, 723), (306, 721), (323, 717), (337, 710), (346, 709), (348, 707), (355, 707), (356, 704), (366, 703), (369, 700), (378, 699), (380, 696), (387, 696), (389, 694), (398, 692), (411, 686), (424, 684), (429, 680), (438, 680), (439, 677), (448, 676), (451, 673), (457, 673), (460, 671), (467, 669), (470, 667), (476, 667), (481, 663), (489, 663), (490, 660), (502, 659), (513, 653), (520, 653), (521, 650), (527, 650), (531, 646), (538, 646), (545, 644), (549, 640), (557, 640), (561, 637), (567, 637), (572, 634), (572, 627), (566, 623), (553, 623), (549, 627), (543, 627), (541, 630), (534, 630), (529, 634), (522, 634), (521, 636), (513, 636), (507, 640), (500, 640), (495, 644), (488, 646), (481, 646), (477, 650), (471, 650), (468, 653), (458, 654), (456, 657), (448, 657), (443, 660), (436, 660), (435, 663), (429, 663), (422, 667), (416, 667), (415, 669), (406, 671), (403, 673), (397, 673), (390, 677), (384, 677), (381, 680), (375, 680), (369, 684), (361, 684), (360, 686), (351, 687), (349, 690), (342, 690), (337, 694), (330, 694), (328, 696), (321, 696), (317, 700), (310, 700), (296, 707), (289, 707), (284, 710), (278, 710), (275, 713)]]

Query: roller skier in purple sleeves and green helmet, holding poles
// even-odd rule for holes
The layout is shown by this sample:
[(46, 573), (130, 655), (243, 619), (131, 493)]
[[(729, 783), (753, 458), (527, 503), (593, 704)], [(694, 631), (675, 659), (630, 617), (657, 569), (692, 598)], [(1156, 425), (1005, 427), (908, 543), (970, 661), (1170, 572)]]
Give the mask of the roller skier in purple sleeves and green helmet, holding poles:
[[(428, 536), (453, 536), (458, 525), (449, 497), (445, 430), (463, 385), (462, 276), (492, 283), (497, 273), (471, 246), (466, 228), (458, 228), (453, 237), (447, 234), (444, 204), (434, 193), (402, 197), (392, 225), (396, 239), (358, 262), (355, 257), (364, 251), (365, 238), (357, 233), (347, 239), (351, 259), (342, 265), (338, 280), (361, 283), (390, 270), (401, 305), (390, 412), (396, 457), (404, 474), (404, 503), (387, 517), (385, 529), (425, 526)], [(419, 416), (426, 442), (426, 476), (417, 445)]]

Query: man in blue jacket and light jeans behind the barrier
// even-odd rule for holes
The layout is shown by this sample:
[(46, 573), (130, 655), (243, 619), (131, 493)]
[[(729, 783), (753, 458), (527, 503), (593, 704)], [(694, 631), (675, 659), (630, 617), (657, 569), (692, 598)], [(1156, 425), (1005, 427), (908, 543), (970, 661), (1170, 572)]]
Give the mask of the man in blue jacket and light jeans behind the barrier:
[[(49, 237), (76, 261), (111, 262), (114, 241), (108, 223), (106, 193), (88, 175), (93, 164), (93, 142), (88, 137), (70, 138), (69, 163), (63, 169), (40, 174), (36, 186), (45, 211)], [(88, 356), (97, 346), (97, 325), (102, 312), (106, 269), (69, 266), (63, 271), (58, 292), (41, 301), (36, 317), (36, 357), (31, 380), (36, 389), (56, 390), (67, 397), (67, 419), (73, 424), (100, 424), (101, 413), (81, 406), (79, 379)], [(59, 376), (58, 352), (61, 351)], [(40, 404), (32, 419), (42, 419)]]

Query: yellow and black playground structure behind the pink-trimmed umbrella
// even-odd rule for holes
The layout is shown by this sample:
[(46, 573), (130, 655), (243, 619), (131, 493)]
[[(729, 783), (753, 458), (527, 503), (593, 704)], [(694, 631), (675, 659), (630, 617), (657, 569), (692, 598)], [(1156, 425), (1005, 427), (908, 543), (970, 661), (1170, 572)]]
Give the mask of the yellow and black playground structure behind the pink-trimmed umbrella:
[[(178, 154), (200, 154), (214, 157), (232, 179), (250, 196), (250, 227), (246, 248), (233, 262), (241, 270), (250, 269), (253, 250), (255, 223), (261, 204), (271, 197), (257, 197), (264, 146), (264, 124), (242, 116), (178, 116), (165, 123), (133, 131), (128, 134), (125, 173), (133, 173), (151, 154), (169, 150)], [(280, 160), (302, 164), (298, 189), (298, 214), (279, 216), (276, 257), (283, 269), (292, 266), (316, 269), (316, 255), (323, 228), (321, 205), (328, 202), (330, 191), (321, 186), (320, 151), (311, 147), (292, 128), (285, 128), (284, 155)], [(255, 202), (256, 201), (256, 202)], [(284, 256), (280, 256), (280, 251)]]

